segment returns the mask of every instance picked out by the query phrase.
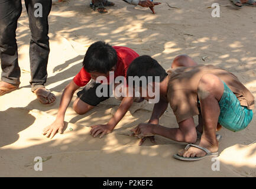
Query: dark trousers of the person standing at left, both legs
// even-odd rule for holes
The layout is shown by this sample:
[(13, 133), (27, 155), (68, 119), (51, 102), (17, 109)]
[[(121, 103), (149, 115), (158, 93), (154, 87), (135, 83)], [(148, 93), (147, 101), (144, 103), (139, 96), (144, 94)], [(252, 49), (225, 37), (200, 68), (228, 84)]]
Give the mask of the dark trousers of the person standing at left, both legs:
[[(37, 3), (42, 5), (42, 17), (40, 17), (38, 9), (40, 6)], [(31, 31), (30, 84), (31, 89), (35, 90), (40, 86), (44, 86), (47, 79), (47, 63), (50, 52), (48, 15), (51, 11), (51, 0), (25, 0), (25, 6)], [(0, 0), (1, 80), (17, 86), (20, 84), (21, 70), (18, 66), (16, 29), (21, 11), (21, 0)]]

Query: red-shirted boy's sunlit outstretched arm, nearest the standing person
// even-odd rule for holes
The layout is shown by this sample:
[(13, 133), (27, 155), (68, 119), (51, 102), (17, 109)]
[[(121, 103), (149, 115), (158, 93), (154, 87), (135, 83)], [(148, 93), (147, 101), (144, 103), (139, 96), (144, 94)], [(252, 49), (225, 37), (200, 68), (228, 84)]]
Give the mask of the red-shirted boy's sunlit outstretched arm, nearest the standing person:
[(67, 107), (69, 106), (70, 101), (72, 100), (74, 92), (79, 89), (80, 87), (77, 86), (73, 80), (70, 82), (64, 89), (63, 94), (61, 95), (60, 100), (60, 106), (59, 110), (56, 116), (56, 119), (54, 120), (51, 125), (47, 126), (43, 129), (43, 135), (46, 135), (47, 137), (50, 136), (50, 138), (53, 138), (53, 136), (59, 132), (63, 132), (64, 128), (64, 116), (67, 110)]

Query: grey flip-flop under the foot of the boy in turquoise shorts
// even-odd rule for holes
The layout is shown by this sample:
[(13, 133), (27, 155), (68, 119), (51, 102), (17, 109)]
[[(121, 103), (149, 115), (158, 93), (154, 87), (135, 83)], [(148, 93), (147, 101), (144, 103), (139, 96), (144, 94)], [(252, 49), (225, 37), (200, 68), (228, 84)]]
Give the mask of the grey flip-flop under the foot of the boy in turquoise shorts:
[(186, 145), (186, 147), (184, 149), (187, 150), (187, 149), (189, 149), (190, 146), (202, 149), (202, 151), (206, 152), (206, 155), (204, 157), (185, 158), (185, 157), (180, 156), (179, 154), (174, 154), (173, 158), (179, 159), (179, 160), (182, 160), (182, 161), (198, 161), (200, 159), (204, 159), (204, 158), (207, 158), (207, 157), (218, 157), (218, 155), (219, 155), (219, 152), (210, 152), (209, 149), (203, 148), (202, 146), (195, 145), (195, 144), (188, 144), (188, 145)]

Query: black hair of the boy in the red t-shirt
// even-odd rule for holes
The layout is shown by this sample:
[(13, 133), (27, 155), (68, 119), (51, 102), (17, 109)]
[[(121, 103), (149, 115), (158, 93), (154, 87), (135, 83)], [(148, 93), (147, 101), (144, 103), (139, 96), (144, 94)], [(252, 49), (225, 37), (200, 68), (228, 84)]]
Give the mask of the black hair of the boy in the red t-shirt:
[(97, 41), (90, 45), (83, 58), (83, 67), (88, 72), (108, 73), (117, 63), (116, 51), (111, 45)]

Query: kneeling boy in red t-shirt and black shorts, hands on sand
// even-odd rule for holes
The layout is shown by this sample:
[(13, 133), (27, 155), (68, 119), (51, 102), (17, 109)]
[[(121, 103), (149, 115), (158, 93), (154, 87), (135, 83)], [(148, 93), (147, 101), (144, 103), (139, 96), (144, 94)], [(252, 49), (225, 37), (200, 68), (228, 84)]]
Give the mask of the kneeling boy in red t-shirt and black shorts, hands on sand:
[[(109, 93), (107, 96), (102, 97), (98, 97), (99, 95), (96, 94), (97, 87), (104, 84), (96, 83), (96, 78), (105, 76), (108, 79), (108, 83), (105, 84), (109, 87), (109, 72), (114, 71), (114, 78), (118, 76), (126, 77), (129, 64), (138, 56), (139, 55), (130, 48), (111, 47), (111, 45), (102, 41), (90, 45), (83, 60), (83, 68), (64, 89), (56, 120), (43, 129), (43, 134), (53, 138), (57, 132), (63, 132), (66, 109), (69, 106), (74, 92), (80, 87), (85, 86), (77, 93), (77, 99), (73, 103), (74, 111), (80, 115), (85, 114), (103, 100), (108, 99), (111, 95)], [(108, 89), (108, 92), (109, 91), (112, 90)], [(109, 122), (106, 125), (92, 126), (90, 135), (93, 137), (100, 135), (99, 137), (102, 138), (106, 133), (112, 132), (118, 122), (124, 117), (125, 113), (127, 113), (132, 103), (134, 101), (141, 102), (144, 99), (140, 97), (135, 99), (127, 95), (127, 97), (122, 97), (121, 100), (121, 104)]]

